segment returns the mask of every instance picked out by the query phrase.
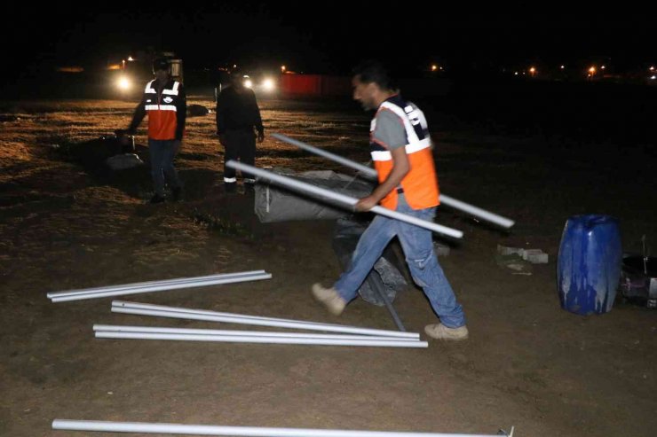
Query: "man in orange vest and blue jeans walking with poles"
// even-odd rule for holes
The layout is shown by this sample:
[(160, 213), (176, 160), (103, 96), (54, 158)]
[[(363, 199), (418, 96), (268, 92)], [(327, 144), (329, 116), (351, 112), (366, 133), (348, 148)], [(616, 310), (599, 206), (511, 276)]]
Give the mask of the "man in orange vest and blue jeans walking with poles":
[[(368, 211), (381, 202), (383, 207), (431, 221), (439, 205), (439, 190), (422, 111), (401, 98), (391, 75), (377, 61), (357, 66), (352, 86), (353, 98), (365, 110), (376, 110), (370, 125), (370, 152), (379, 181), (372, 194), (358, 201), (356, 210)], [(330, 313), (340, 315), (394, 237), (400, 238), (411, 275), (440, 318), (439, 324), (428, 324), (424, 332), (434, 339), (467, 339), (463, 308), (440, 268), (431, 231), (382, 215), (362, 234), (351, 265), (336, 283), (330, 288), (313, 285), (315, 299)]]

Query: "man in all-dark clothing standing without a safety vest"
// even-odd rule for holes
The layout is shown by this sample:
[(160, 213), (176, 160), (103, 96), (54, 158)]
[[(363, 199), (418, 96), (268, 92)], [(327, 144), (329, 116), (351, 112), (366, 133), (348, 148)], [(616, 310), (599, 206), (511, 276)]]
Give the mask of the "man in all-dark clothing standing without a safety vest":
[[(229, 160), (241, 160), (249, 166), (256, 160), (257, 142), (265, 140), (265, 128), (257, 107), (256, 94), (243, 84), (243, 75), (239, 71), (231, 74), (231, 83), (217, 98), (217, 135), (219, 143), (226, 151), (224, 156), (224, 185), (226, 191), (234, 191), (237, 183), (234, 168), (226, 167)], [(243, 175), (244, 183), (253, 187), (256, 180), (250, 175)]]

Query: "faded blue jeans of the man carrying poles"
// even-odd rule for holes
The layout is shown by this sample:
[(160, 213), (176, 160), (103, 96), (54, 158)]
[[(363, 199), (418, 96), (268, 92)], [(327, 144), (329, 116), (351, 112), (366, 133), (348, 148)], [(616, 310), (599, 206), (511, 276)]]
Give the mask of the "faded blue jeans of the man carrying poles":
[[(414, 210), (400, 202), (397, 211), (432, 221), (436, 208)], [(463, 326), (463, 308), (456, 302), (454, 291), (440, 268), (433, 250), (431, 230), (383, 215), (376, 215), (360, 237), (351, 265), (333, 285), (337, 293), (346, 301), (355, 298), (369, 271), (384, 253), (385, 246), (395, 236), (400, 238), (413, 280), (422, 287), (431, 308), (440, 317), (440, 322), (448, 328)]]

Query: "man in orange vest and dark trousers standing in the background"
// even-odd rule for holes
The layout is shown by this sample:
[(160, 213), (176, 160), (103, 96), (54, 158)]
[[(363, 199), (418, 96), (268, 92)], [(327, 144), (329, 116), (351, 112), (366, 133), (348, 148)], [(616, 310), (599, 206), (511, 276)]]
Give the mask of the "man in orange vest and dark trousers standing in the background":
[(144, 97), (135, 109), (127, 133), (134, 135), (148, 114), (148, 150), (155, 191), (151, 203), (161, 203), (165, 199), (165, 182), (169, 183), (174, 200), (182, 195), (182, 183), (173, 167), (173, 159), (182, 144), (187, 103), (183, 84), (171, 79), (168, 59), (155, 59), (153, 74), (155, 79), (146, 83)]

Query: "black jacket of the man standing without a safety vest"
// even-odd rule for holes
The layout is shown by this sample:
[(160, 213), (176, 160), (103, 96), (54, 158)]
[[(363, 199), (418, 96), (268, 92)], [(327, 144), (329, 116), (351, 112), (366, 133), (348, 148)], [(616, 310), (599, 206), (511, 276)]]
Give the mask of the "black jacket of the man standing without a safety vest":
[(231, 85), (221, 90), (217, 98), (217, 133), (226, 130), (253, 131), (262, 134), (265, 128), (257, 107), (256, 94), (242, 86)]

